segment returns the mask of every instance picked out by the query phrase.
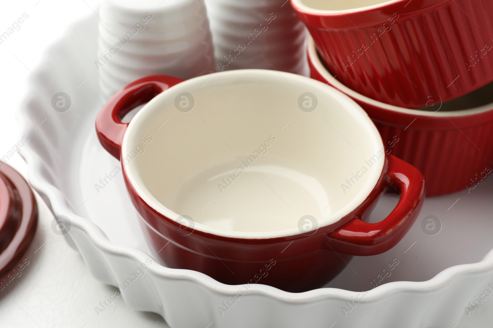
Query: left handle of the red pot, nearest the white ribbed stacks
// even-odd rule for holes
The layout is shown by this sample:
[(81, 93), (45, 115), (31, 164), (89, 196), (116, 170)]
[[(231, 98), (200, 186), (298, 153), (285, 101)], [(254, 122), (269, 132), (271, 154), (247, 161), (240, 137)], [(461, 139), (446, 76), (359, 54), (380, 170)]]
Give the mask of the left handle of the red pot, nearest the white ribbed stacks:
[(168, 75), (152, 75), (132, 82), (116, 92), (96, 118), (98, 139), (106, 150), (120, 159), (120, 146), (128, 123), (121, 119), (132, 109), (184, 80)]

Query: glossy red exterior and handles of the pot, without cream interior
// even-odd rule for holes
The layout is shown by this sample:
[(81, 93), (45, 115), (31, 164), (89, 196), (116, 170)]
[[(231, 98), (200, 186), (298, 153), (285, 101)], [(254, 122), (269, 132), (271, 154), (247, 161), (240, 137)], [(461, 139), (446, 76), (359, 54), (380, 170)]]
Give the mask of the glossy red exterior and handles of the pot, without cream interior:
[[(147, 88), (146, 84), (165, 78), (147, 77), (132, 86), (140, 85), (143, 89)], [(122, 101), (130, 99), (127, 92), (136, 94), (139, 88), (125, 88), (117, 93), (98, 115), (98, 129), (112, 126), (105, 120), (121, 117), (110, 106), (117, 104), (122, 110), (128, 110), (130, 105)], [(98, 136), (116, 136), (117, 139), (110, 140), (112, 145), (122, 141), (121, 134), (108, 131), (98, 131)], [(102, 143), (107, 144), (107, 140), (103, 139)], [(119, 158), (120, 154), (115, 157)], [(325, 285), (353, 255), (375, 255), (392, 248), (412, 226), (425, 193), (422, 174), (408, 163), (388, 155), (380, 179), (368, 198), (338, 222), (306, 234), (239, 239), (194, 230), (160, 214), (138, 195), (129, 182), (125, 166), (122, 171), (133, 204), (143, 218), (141, 226), (148, 241), (167, 267), (197, 270), (226, 284), (258, 282), (291, 292)], [(363, 222), (387, 191), (401, 194), (396, 208), (382, 222)]]

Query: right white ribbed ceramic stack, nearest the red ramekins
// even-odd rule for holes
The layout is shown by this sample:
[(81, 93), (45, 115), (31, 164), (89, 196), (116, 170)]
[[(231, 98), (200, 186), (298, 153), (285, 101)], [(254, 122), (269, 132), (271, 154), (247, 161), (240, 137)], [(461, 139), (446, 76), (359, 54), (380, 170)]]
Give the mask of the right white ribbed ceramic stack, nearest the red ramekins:
[(309, 76), (308, 32), (285, 0), (207, 0), (218, 71), (275, 69)]

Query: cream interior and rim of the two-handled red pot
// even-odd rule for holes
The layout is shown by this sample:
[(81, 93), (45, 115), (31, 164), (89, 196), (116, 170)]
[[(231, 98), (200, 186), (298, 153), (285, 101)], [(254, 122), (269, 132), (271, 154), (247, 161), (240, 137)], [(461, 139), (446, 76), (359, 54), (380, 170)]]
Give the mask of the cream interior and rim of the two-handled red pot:
[[(194, 98), (189, 112), (175, 106), (182, 92)], [(299, 107), (305, 92), (318, 100), (312, 112)], [(138, 195), (159, 213), (250, 239), (339, 221), (368, 197), (385, 161), (375, 125), (351, 98), (271, 70), (213, 73), (162, 92), (130, 122), (122, 158)]]

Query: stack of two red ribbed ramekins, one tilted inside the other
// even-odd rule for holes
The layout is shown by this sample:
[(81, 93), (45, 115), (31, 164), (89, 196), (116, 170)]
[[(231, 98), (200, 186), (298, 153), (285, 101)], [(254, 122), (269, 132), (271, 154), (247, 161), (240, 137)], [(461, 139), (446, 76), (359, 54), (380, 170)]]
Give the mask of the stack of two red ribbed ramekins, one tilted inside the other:
[(312, 77), (373, 119), (427, 195), (474, 187), (493, 163), (493, 24), (486, 0), (291, 0)]

